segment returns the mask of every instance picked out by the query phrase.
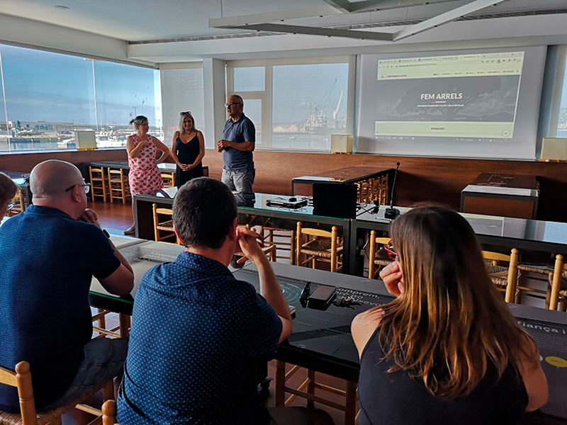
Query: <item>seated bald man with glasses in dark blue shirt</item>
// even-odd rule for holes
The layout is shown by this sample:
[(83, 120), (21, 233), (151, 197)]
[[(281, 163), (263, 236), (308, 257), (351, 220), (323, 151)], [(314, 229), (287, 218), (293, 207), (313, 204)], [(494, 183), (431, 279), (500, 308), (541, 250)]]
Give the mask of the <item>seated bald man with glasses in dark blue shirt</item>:
[[(30, 175), (33, 204), (0, 232), (0, 365), (30, 363), (35, 407), (71, 402), (122, 370), (122, 339), (92, 336), (92, 277), (130, 293), (133, 271), (86, 208), (89, 185), (73, 164), (50, 160)], [(0, 409), (19, 412), (15, 388), (0, 385)]]

